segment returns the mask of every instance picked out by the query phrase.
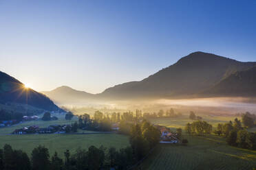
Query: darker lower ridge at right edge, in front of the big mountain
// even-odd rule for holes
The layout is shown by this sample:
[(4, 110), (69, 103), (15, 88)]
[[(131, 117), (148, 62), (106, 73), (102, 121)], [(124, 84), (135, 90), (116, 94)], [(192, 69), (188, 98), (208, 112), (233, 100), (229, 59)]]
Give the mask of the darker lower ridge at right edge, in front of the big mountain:
[(220, 96), (253, 96), (256, 95), (256, 67), (246, 71), (238, 71), (216, 84), (204, 95)]

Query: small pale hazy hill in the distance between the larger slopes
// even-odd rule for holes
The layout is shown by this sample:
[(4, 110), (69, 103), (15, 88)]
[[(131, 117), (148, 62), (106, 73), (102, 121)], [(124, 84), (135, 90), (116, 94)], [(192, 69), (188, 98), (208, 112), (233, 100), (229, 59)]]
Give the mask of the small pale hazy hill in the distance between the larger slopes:
[(59, 104), (71, 104), (76, 101), (84, 99), (92, 99), (94, 95), (84, 91), (74, 90), (69, 86), (61, 86), (50, 91), (42, 91), (41, 93), (47, 95)]

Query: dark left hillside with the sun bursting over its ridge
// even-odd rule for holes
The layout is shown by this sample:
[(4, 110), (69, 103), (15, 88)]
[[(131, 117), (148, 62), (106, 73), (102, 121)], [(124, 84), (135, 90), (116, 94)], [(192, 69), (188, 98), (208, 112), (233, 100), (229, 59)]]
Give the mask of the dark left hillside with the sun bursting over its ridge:
[(0, 103), (13, 102), (28, 104), (44, 110), (60, 110), (48, 97), (37, 93), (31, 88), (25, 88), (24, 84), (14, 77), (0, 71)]

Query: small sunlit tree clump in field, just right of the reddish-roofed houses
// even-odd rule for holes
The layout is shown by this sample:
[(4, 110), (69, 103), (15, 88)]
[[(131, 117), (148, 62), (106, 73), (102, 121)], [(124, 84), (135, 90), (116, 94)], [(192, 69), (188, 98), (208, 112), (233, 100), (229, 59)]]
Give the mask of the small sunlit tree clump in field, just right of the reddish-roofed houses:
[(185, 130), (190, 135), (204, 136), (205, 134), (211, 134), (213, 126), (206, 121), (194, 121), (193, 123), (187, 123)]

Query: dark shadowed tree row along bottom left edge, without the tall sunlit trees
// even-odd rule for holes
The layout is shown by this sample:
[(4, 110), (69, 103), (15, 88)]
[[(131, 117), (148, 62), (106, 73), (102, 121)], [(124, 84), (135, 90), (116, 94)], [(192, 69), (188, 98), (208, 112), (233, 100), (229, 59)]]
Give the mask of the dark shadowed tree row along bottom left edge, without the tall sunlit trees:
[(87, 150), (77, 149), (75, 154), (69, 150), (64, 152), (65, 159), (60, 158), (55, 152), (50, 158), (49, 150), (39, 145), (32, 150), (30, 158), (21, 150), (12, 149), (4, 145), (0, 149), (1, 170), (84, 170), (84, 169), (127, 169), (133, 162), (131, 147), (116, 150), (101, 146), (90, 146)]

